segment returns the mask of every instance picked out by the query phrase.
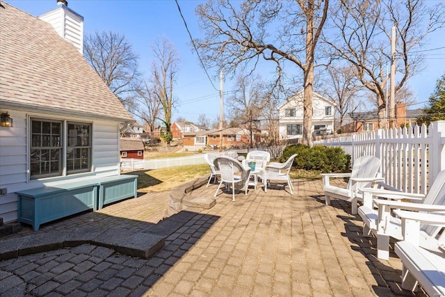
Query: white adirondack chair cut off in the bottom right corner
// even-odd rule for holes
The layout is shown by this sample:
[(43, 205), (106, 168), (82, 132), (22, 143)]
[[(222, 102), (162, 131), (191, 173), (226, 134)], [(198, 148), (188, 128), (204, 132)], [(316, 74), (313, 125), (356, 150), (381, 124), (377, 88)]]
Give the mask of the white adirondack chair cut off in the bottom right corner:
[[(402, 262), (402, 287), (417, 291), (418, 284), (429, 296), (445, 296), (445, 216), (395, 210), (401, 218), (403, 241), (394, 250)], [(425, 236), (426, 224), (442, 229), (440, 236)], [(428, 227), (426, 227), (428, 229)]]

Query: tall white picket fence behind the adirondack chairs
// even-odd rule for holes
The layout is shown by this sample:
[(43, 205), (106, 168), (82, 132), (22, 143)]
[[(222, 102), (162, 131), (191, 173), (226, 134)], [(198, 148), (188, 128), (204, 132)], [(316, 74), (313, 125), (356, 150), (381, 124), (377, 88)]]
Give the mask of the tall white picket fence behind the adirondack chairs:
[(352, 161), (373, 155), (382, 160), (385, 182), (412, 193), (427, 193), (441, 170), (445, 170), (445, 121), (430, 127), (408, 127), (365, 132), (314, 141), (314, 145), (341, 147)]

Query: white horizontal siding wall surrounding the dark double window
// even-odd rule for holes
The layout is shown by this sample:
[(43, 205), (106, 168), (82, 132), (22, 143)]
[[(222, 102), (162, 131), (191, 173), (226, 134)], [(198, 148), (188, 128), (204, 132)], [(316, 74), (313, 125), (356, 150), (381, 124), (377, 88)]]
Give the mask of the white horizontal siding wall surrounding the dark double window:
[[(8, 111), (13, 118), (13, 127), (0, 127), (0, 188), (7, 194), (0, 195), (0, 217), (4, 222), (17, 220), (16, 191), (41, 186), (56, 186), (67, 180), (89, 179), (92, 176), (119, 175), (119, 124), (118, 122), (95, 121), (86, 118), (60, 118), (56, 115), (40, 115), (14, 111), (0, 106), (0, 111)], [(49, 118), (92, 122), (92, 172), (82, 172), (65, 177), (47, 177), (28, 180), (28, 119)]]

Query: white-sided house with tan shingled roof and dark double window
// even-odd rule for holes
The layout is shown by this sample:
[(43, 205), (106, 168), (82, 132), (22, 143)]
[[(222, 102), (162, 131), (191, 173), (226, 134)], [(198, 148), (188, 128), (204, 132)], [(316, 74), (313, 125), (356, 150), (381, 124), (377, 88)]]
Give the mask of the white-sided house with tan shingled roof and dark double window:
[[(0, 217), (18, 191), (120, 175), (119, 123), (131, 115), (46, 22), (0, 1)], [(3, 194), (3, 193), (2, 193)]]

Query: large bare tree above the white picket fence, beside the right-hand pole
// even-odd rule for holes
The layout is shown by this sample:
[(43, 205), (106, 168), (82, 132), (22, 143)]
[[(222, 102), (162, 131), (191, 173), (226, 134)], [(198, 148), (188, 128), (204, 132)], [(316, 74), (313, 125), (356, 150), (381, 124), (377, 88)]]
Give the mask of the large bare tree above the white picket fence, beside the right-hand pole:
[(444, 3), (435, 7), (426, 7), (421, 0), (336, 3), (331, 7), (334, 29), (324, 39), (332, 49), (330, 56), (348, 61), (362, 85), (375, 94), (379, 127), (384, 127), (391, 27), (395, 26), (397, 32), (397, 92), (407, 79), (421, 71), (424, 64), (419, 46), (428, 33), (444, 26)]

